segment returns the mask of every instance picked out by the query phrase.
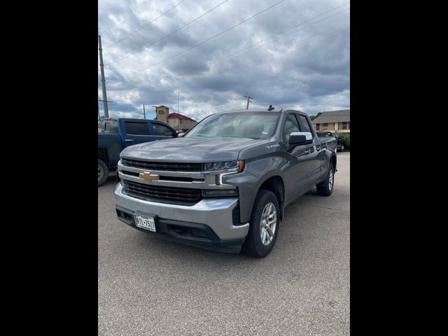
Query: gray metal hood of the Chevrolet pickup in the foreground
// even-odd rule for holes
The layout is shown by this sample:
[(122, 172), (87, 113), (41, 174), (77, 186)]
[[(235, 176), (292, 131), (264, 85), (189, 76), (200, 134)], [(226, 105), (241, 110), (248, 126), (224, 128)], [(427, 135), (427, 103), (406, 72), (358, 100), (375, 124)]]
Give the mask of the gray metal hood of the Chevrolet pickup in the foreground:
[(156, 140), (125, 148), (121, 158), (166, 162), (221, 162), (238, 159), (241, 149), (262, 144), (268, 139), (174, 138)]

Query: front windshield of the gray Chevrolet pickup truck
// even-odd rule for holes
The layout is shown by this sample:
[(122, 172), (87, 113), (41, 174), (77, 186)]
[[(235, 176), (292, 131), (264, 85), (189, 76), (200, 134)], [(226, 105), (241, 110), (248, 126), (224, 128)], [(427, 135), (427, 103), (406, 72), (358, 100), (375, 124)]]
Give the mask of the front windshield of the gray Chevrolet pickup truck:
[(279, 113), (225, 113), (205, 118), (185, 137), (268, 139), (275, 132)]

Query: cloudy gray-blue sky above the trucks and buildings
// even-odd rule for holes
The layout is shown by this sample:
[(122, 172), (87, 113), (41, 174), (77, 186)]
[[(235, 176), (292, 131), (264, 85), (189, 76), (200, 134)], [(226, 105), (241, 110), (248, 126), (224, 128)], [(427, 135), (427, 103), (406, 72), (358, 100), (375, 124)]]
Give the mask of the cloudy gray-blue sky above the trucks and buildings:
[(178, 92), (179, 113), (195, 120), (245, 109), (244, 95), (254, 97), (251, 109), (349, 109), (349, 8), (344, 0), (99, 0), (109, 115), (143, 118), (142, 104), (146, 118), (152, 105), (176, 112)]

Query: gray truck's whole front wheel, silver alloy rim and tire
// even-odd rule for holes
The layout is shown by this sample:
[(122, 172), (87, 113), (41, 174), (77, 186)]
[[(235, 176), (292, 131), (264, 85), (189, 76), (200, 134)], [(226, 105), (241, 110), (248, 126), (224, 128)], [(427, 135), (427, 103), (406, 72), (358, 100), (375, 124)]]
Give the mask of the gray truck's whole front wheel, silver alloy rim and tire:
[(277, 198), (272, 191), (260, 190), (254, 202), (243, 251), (255, 258), (268, 255), (279, 233), (279, 223), (280, 210)]

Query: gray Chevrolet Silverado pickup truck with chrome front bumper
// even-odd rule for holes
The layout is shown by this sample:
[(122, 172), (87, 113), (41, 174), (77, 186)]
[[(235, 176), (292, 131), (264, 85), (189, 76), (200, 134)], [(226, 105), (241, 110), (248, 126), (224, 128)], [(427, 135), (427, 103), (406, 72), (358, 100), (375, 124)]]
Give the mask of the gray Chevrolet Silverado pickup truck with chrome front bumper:
[(291, 109), (214, 113), (181, 138), (125, 148), (118, 218), (184, 244), (264, 257), (285, 207), (316, 186), (329, 196), (336, 139)]

